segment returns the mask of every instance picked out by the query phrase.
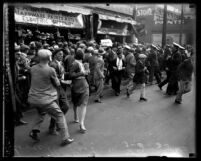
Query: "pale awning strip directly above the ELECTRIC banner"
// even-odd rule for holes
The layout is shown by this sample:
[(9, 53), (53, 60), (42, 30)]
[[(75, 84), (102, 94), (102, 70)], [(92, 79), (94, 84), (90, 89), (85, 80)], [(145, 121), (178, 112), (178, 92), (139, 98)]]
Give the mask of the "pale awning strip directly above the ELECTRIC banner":
[(69, 13), (81, 13), (83, 15), (90, 15), (91, 14), (91, 10), (90, 9), (86, 9), (86, 8), (82, 8), (82, 7), (78, 7), (78, 6), (71, 6), (71, 4), (55, 4), (55, 3), (28, 3), (25, 5), (29, 5), (32, 7), (36, 7), (36, 8), (48, 8), (51, 9), (53, 11), (65, 11), (65, 12), (69, 12)]

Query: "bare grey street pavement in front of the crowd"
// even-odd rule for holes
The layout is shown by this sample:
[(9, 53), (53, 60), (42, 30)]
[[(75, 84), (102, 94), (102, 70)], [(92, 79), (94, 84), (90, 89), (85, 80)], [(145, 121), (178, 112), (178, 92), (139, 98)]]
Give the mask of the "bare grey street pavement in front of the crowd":
[(195, 83), (183, 96), (180, 105), (175, 96), (165, 95), (157, 85), (146, 87), (147, 102), (139, 102), (140, 91), (126, 98), (125, 86), (120, 96), (111, 87), (104, 90), (103, 103), (90, 97), (86, 114), (87, 132), (79, 132), (73, 123), (73, 110), (66, 115), (69, 133), (74, 142), (61, 147), (60, 137), (49, 135), (50, 117), (41, 126), (40, 142), (28, 133), (35, 110), (24, 114), (29, 124), (15, 127), (15, 156), (23, 157), (189, 157), (195, 153)]

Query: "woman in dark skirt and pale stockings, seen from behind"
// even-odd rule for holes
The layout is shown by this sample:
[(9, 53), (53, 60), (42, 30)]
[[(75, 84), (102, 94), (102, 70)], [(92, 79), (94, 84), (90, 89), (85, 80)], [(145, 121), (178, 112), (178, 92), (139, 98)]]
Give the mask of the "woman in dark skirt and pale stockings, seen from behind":
[[(74, 121), (80, 123), (80, 132), (85, 133), (85, 116), (87, 104), (89, 99), (89, 85), (86, 80), (88, 72), (85, 71), (82, 63), (84, 59), (84, 52), (82, 49), (76, 51), (75, 61), (70, 70), (70, 77), (72, 79), (72, 102), (74, 110)], [(80, 107), (80, 119), (78, 115), (78, 108)]]

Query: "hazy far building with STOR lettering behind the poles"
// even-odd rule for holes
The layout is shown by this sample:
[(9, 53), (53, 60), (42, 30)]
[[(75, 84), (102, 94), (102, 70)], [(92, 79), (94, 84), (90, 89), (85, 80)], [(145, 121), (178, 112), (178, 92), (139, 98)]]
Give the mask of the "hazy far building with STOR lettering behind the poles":
[[(139, 40), (146, 43), (161, 44), (163, 31), (163, 8), (157, 5), (149, 5), (148, 7), (139, 8), (136, 14), (137, 22), (144, 26), (143, 34), (139, 36)], [(166, 37), (170, 37), (173, 41), (179, 43), (181, 31), (180, 12), (167, 11)], [(189, 27), (188, 21), (184, 19), (182, 31), (182, 44), (192, 43), (190, 35), (192, 35), (192, 26)]]

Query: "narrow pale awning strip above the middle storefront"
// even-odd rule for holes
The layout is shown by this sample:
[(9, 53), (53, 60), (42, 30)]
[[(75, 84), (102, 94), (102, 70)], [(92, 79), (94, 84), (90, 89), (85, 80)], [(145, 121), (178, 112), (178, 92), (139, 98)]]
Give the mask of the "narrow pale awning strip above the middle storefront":
[(99, 18), (102, 20), (113, 20), (120, 23), (130, 23), (132, 25), (137, 24), (137, 22), (132, 20), (131, 18), (113, 17), (113, 16), (103, 15), (103, 14), (99, 14)]

